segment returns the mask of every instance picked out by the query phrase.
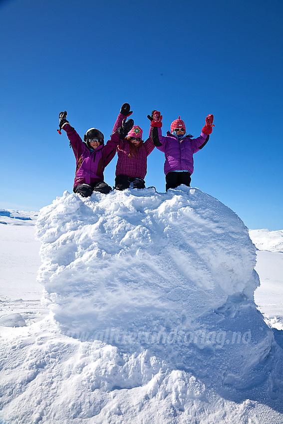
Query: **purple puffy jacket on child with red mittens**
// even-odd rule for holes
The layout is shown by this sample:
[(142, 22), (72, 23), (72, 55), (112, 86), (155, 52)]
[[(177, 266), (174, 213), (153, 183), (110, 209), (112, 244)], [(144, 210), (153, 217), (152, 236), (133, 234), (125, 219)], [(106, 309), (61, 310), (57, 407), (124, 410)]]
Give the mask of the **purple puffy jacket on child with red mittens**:
[(161, 144), (159, 146), (157, 137), (152, 134), (152, 139), (156, 148), (165, 153), (165, 175), (171, 171), (189, 171), (190, 174), (193, 174), (193, 154), (205, 146), (208, 142), (209, 136), (201, 132), (200, 137), (194, 139), (192, 137), (193, 136), (188, 135), (183, 140), (179, 140), (169, 131), (167, 132), (166, 137), (163, 137), (161, 128), (158, 128), (158, 139), (159, 144)]

